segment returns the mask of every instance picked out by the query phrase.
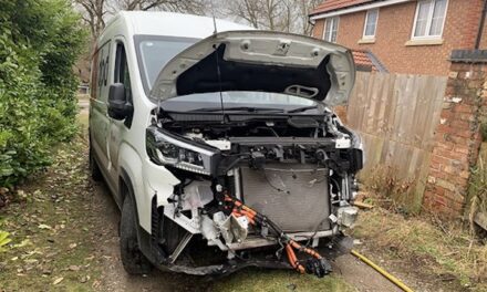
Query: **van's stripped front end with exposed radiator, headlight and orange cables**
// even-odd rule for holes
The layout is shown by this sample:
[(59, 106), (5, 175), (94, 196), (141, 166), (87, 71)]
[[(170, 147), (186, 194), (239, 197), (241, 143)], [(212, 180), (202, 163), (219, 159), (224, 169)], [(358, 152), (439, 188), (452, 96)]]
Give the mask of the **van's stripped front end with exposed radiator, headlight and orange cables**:
[(153, 208), (152, 237), (168, 263), (199, 241), (226, 260), (266, 250), (299, 272), (330, 272), (313, 248), (353, 227), (363, 164), (360, 137), (332, 112), (159, 111), (146, 147), (180, 181)]

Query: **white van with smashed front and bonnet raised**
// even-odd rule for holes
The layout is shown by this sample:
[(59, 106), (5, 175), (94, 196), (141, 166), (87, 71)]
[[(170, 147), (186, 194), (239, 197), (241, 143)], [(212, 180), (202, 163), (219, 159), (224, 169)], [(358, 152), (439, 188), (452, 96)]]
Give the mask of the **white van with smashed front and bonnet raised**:
[(329, 273), (362, 168), (360, 137), (329, 106), (354, 77), (351, 52), (321, 40), (114, 17), (93, 54), (90, 163), (122, 210), (126, 271)]

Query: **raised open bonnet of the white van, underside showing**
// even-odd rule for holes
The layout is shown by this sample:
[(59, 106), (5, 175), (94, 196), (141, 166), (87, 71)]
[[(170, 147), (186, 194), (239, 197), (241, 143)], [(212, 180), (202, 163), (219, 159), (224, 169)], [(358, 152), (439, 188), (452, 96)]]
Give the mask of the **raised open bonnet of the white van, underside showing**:
[(154, 101), (226, 91), (283, 93), (348, 101), (355, 80), (352, 53), (313, 38), (273, 31), (227, 31), (173, 58), (151, 91)]

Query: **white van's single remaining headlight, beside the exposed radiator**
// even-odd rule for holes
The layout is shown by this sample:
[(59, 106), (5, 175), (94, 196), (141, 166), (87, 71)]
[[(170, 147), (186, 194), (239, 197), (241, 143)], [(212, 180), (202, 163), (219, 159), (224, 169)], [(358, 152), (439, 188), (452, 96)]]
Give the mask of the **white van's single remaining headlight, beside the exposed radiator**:
[(155, 164), (211, 175), (219, 150), (167, 131), (151, 126), (146, 131), (147, 154)]

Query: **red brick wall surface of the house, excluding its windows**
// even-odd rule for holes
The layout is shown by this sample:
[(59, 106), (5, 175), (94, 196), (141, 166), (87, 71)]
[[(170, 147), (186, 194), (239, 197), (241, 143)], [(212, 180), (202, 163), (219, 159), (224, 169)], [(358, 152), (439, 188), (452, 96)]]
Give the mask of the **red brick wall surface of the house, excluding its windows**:
[[(416, 1), (381, 8), (375, 43), (372, 44), (359, 44), (365, 11), (340, 15), (338, 43), (371, 50), (390, 72), (446, 75), (452, 50), (474, 49), (483, 0), (449, 0), (447, 9), (443, 44), (406, 45), (411, 40)], [(324, 20), (317, 21), (314, 36), (322, 36), (323, 23)], [(487, 44), (487, 40), (485, 42)]]

